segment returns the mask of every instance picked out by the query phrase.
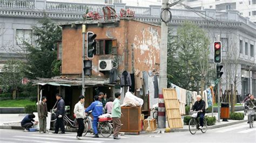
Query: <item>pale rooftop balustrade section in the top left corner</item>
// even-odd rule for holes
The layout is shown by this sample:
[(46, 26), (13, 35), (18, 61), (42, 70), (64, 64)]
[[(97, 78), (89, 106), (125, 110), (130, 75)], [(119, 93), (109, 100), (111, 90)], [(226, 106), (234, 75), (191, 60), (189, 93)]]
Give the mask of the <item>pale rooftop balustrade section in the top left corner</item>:
[(35, 9), (35, 0), (0, 0), (0, 8)]

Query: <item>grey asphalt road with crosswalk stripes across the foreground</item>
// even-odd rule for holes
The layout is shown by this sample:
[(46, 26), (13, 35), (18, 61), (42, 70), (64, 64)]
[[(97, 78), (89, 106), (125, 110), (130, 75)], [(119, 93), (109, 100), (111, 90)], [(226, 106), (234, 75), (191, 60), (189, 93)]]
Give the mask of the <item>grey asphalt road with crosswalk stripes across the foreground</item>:
[(113, 138), (91, 138), (86, 135), (83, 140), (76, 139), (76, 133), (40, 134), (22, 130), (0, 130), (0, 142), (256, 142), (256, 127), (249, 128), (247, 123), (215, 128), (206, 133), (190, 132), (152, 133), (141, 135), (120, 135), (120, 140)]

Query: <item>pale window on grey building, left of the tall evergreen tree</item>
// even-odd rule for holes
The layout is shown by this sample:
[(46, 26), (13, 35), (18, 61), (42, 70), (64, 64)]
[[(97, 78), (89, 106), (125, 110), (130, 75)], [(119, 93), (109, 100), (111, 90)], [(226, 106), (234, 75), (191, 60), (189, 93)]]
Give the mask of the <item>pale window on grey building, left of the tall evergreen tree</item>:
[(32, 30), (16, 30), (16, 44), (23, 45), (24, 42), (32, 44)]

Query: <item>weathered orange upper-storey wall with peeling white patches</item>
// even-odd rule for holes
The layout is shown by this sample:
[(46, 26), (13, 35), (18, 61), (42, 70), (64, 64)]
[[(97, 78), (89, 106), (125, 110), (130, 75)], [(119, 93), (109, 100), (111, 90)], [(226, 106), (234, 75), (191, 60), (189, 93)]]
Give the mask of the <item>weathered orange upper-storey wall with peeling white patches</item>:
[[(117, 39), (117, 55), (95, 55), (92, 60), (92, 76), (107, 77), (98, 69), (101, 59), (114, 59), (118, 61), (118, 71), (134, 69), (158, 69), (160, 50), (160, 27), (134, 20), (121, 19), (118, 24), (87, 24), (86, 32), (97, 34), (96, 39)], [(77, 25), (63, 26), (62, 35), (63, 55), (62, 74), (68, 77), (80, 77), (82, 74), (82, 27)], [(107, 73), (107, 72), (106, 72)]]

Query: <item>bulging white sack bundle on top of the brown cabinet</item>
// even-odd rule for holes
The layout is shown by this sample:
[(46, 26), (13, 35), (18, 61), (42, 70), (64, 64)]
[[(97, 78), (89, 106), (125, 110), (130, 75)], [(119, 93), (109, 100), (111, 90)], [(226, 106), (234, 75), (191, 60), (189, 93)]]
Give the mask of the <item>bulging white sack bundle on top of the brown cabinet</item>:
[(138, 98), (137, 96), (133, 95), (130, 91), (127, 91), (124, 97), (123, 104), (121, 106), (141, 107), (143, 103), (144, 101), (142, 98)]

